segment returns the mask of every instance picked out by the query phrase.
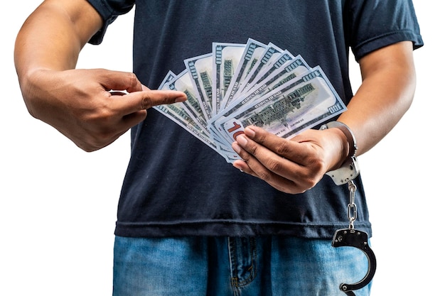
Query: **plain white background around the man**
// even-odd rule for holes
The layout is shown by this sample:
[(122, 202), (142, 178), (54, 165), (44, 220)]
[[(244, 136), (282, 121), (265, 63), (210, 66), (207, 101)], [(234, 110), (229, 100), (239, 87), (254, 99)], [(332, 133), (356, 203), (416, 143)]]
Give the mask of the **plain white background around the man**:
[[(0, 295), (111, 295), (112, 246), (129, 133), (85, 153), (26, 111), (14, 40), (40, 0), (6, 1), (0, 19)], [(377, 256), (373, 295), (439, 295), (444, 266), (444, 39), (439, 1), (414, 0), (426, 45), (400, 124), (360, 156)], [(377, 16), (376, 16), (377, 17)], [(87, 45), (78, 67), (132, 70), (132, 13)], [(354, 64), (355, 65), (355, 64)], [(355, 87), (360, 75), (354, 68)], [(186, 152), (185, 152), (186, 153)]]

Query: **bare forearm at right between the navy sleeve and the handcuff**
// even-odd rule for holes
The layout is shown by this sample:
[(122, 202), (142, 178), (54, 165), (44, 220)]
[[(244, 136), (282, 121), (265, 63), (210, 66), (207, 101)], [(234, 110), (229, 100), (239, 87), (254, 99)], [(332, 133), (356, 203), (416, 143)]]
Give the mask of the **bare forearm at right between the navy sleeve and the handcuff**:
[(412, 43), (404, 42), (370, 53), (360, 60), (363, 84), (338, 121), (355, 133), (358, 155), (375, 146), (402, 118), (416, 84)]

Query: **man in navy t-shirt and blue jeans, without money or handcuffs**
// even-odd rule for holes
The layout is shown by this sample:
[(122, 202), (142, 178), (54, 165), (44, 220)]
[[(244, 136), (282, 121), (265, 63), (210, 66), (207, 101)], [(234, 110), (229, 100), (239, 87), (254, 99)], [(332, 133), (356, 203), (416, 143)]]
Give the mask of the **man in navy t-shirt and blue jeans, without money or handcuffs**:
[[(331, 247), (348, 223), (348, 187), (326, 172), (375, 146), (412, 102), (412, 50), (423, 43), (411, 1), (136, 1), (134, 74), (75, 70), (82, 46), (100, 43), (133, 4), (44, 1), (18, 34), (15, 54), (30, 113), (83, 150), (132, 127), (114, 295), (341, 295), (338, 285), (360, 280), (368, 266)], [(348, 105), (336, 120), (355, 135), (357, 151), (342, 128), (286, 140), (251, 126), (232, 144), (242, 158), (235, 170), (150, 109), (186, 99), (151, 90), (168, 70), (181, 72), (184, 59), (210, 52), (212, 42), (247, 38), (321, 65)], [(363, 77), (355, 95), (349, 48)], [(360, 177), (355, 182), (355, 226), (370, 234)]]

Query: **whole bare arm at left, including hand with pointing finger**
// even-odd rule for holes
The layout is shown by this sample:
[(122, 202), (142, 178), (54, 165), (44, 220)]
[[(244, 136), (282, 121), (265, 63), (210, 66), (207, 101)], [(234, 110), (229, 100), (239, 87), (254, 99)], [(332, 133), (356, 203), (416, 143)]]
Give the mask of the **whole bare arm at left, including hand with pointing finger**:
[(115, 141), (144, 120), (149, 107), (186, 99), (181, 92), (149, 90), (133, 73), (75, 70), (80, 50), (101, 27), (101, 16), (85, 0), (46, 0), (23, 23), (14, 52), (30, 114), (86, 151)]

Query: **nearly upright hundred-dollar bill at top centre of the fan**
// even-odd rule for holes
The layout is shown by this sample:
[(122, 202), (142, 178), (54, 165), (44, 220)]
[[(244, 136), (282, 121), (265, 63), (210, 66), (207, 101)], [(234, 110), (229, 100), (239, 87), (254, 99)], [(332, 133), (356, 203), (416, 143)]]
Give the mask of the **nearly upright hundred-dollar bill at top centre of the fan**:
[(238, 43), (213, 43), (213, 115), (220, 111), (220, 102), (224, 99), (245, 47), (245, 44)]

